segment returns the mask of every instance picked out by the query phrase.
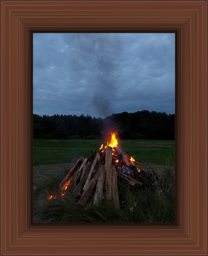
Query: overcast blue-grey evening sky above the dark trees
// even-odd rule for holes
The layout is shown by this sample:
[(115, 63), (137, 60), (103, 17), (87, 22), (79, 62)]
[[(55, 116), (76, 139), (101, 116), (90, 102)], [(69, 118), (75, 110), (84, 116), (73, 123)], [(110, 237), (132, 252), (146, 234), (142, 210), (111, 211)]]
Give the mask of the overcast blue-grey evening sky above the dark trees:
[(33, 33), (33, 113), (175, 113), (174, 33)]

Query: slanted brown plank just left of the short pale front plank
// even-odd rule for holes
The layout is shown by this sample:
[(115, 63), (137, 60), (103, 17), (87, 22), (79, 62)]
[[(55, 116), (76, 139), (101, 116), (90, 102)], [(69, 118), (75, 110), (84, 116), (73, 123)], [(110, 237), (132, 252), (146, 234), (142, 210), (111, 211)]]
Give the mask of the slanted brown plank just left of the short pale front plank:
[(94, 177), (89, 181), (89, 183), (87, 184), (84, 192), (81, 195), (81, 198), (78, 202), (78, 204), (80, 205), (84, 205), (87, 203), (88, 197), (90, 196), (91, 191), (93, 190), (96, 182), (98, 181), (99, 177), (101, 176), (101, 173), (104, 169), (104, 165), (100, 165), (98, 171), (95, 173)]

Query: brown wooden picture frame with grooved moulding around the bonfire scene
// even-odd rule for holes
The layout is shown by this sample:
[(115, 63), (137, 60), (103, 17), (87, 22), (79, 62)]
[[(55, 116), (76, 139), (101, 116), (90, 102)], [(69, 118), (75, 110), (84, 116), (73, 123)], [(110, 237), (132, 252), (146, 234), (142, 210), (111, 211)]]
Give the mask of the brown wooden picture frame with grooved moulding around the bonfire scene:
[[(176, 223), (32, 223), (32, 33), (176, 33)], [(1, 255), (207, 255), (207, 0), (1, 1)]]

